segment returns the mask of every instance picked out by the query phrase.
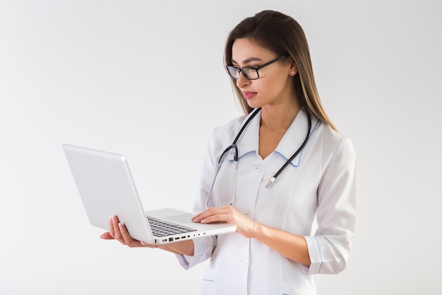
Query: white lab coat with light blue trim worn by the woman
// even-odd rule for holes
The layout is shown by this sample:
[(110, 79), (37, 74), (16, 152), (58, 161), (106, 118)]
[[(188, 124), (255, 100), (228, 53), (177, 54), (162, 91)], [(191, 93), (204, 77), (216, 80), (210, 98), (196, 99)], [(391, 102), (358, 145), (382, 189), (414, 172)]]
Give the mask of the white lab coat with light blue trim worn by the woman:
[[(201, 194), (195, 212), (205, 209), (208, 192), (222, 151), (232, 144), (246, 116), (217, 127), (208, 143)], [(355, 224), (356, 156), (350, 139), (312, 118), (311, 137), (304, 150), (275, 183), (270, 177), (301, 146), (308, 129), (301, 110), (275, 151), (264, 160), (258, 155), (261, 113), (251, 120), (237, 141), (239, 161), (234, 207), (266, 226), (304, 236), (311, 265), (306, 267), (239, 233), (194, 240), (193, 257), (177, 255), (189, 269), (210, 258), (201, 294), (270, 295), (316, 294), (311, 274), (335, 274), (347, 265)], [(232, 199), (232, 153), (222, 162), (209, 206)]]

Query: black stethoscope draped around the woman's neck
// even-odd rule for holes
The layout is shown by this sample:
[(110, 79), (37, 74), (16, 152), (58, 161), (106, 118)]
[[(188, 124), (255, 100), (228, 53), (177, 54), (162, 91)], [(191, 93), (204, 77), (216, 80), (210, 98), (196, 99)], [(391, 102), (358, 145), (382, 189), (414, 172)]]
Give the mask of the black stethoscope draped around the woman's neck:
[[(237, 168), (238, 168), (238, 147), (237, 147), (237, 141), (238, 141), (239, 137), (241, 137), (241, 134), (244, 132), (244, 129), (246, 129), (246, 127), (249, 125), (249, 123), (251, 122), (253, 117), (255, 117), (260, 110), (261, 110), (261, 108), (257, 108), (255, 110), (253, 110), (252, 114), (247, 118), (246, 122), (244, 122), (244, 125), (242, 125), (241, 129), (239, 129), (239, 132), (238, 132), (237, 136), (235, 137), (234, 141), (232, 142), (232, 144), (227, 146), (227, 148), (222, 152), (222, 154), (220, 156), (220, 160), (218, 161), (217, 172), (215, 173), (215, 177), (213, 178), (212, 187), (210, 187), (210, 191), (209, 191), (208, 197), (207, 197), (207, 199), (205, 201), (205, 207), (206, 208), (208, 208), (208, 203), (209, 203), (210, 195), (212, 195), (213, 186), (215, 185), (215, 180), (217, 178), (218, 173), (220, 172), (221, 160), (227, 154), (227, 151), (230, 151), (230, 150), (233, 151), (234, 170), (235, 170), (235, 175), (236, 175)], [(304, 146), (306, 146), (307, 141), (309, 141), (310, 132), (311, 132), (311, 115), (310, 115), (310, 112), (307, 112), (307, 118), (308, 118), (307, 120), (309, 120), (309, 129), (307, 130), (307, 134), (306, 134), (306, 138), (304, 139), (304, 142), (301, 144), (301, 146), (299, 146), (297, 151), (295, 151), (294, 154), (287, 161), (285, 161), (284, 165), (281, 166), (280, 170), (277, 170), (276, 173), (273, 173), (272, 177), (270, 177), (270, 179), (268, 180), (267, 185), (265, 185), (265, 188), (269, 187), (270, 185), (273, 185), (273, 183), (275, 182), (276, 178), (289, 165), (289, 163), (291, 163), (293, 161), (293, 159), (302, 151), (302, 149), (304, 149)], [(234, 191), (232, 193), (232, 201), (229, 202), (229, 205), (232, 205), (234, 203), (234, 201), (235, 201), (235, 198), (236, 198), (236, 190), (237, 190), (237, 177), (236, 176), (234, 178), (234, 184), (233, 185), (234, 185)]]

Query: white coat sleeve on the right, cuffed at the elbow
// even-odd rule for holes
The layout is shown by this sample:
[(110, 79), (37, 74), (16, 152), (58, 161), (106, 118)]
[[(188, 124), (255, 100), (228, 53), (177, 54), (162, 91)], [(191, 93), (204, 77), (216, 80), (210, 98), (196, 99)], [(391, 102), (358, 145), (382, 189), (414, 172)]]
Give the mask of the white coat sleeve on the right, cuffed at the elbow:
[(325, 163), (318, 186), (318, 229), (307, 236), (307, 274), (337, 274), (347, 267), (356, 222), (356, 156), (343, 138)]

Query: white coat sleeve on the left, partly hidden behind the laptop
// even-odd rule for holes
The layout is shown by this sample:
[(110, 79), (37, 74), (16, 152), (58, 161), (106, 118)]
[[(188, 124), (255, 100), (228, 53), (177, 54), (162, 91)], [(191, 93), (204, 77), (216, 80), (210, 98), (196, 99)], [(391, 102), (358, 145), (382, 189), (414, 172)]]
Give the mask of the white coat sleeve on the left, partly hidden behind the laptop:
[[(213, 178), (215, 177), (217, 161), (215, 160), (216, 154), (216, 144), (215, 144), (215, 131), (213, 131), (210, 137), (205, 153), (205, 158), (203, 160), (203, 168), (201, 170), (201, 183), (199, 196), (196, 198), (193, 204), (193, 213), (197, 214), (206, 209), (207, 196), (210, 192), (210, 187), (212, 187)], [(212, 256), (213, 250), (215, 250), (217, 242), (216, 236), (208, 236), (202, 238), (193, 239), (193, 256), (188, 255), (177, 255), (179, 264), (186, 270), (198, 265), (205, 260), (208, 260)]]

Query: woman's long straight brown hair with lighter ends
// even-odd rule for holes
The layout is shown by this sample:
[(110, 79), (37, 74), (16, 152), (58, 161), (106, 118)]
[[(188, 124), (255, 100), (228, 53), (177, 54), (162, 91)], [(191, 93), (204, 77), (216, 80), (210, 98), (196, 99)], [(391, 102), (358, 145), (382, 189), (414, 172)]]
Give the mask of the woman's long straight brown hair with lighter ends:
[[(234, 40), (241, 38), (249, 38), (275, 52), (277, 56), (291, 57), (298, 68), (298, 73), (294, 76), (294, 88), (301, 107), (305, 107), (313, 116), (337, 130), (321, 104), (313, 76), (309, 45), (304, 30), (297, 21), (278, 11), (268, 10), (244, 18), (227, 37), (224, 52), (225, 64), (232, 64), (232, 45)], [(247, 104), (234, 79), (232, 79), (232, 86), (244, 112), (246, 114), (251, 112), (253, 108)]]

